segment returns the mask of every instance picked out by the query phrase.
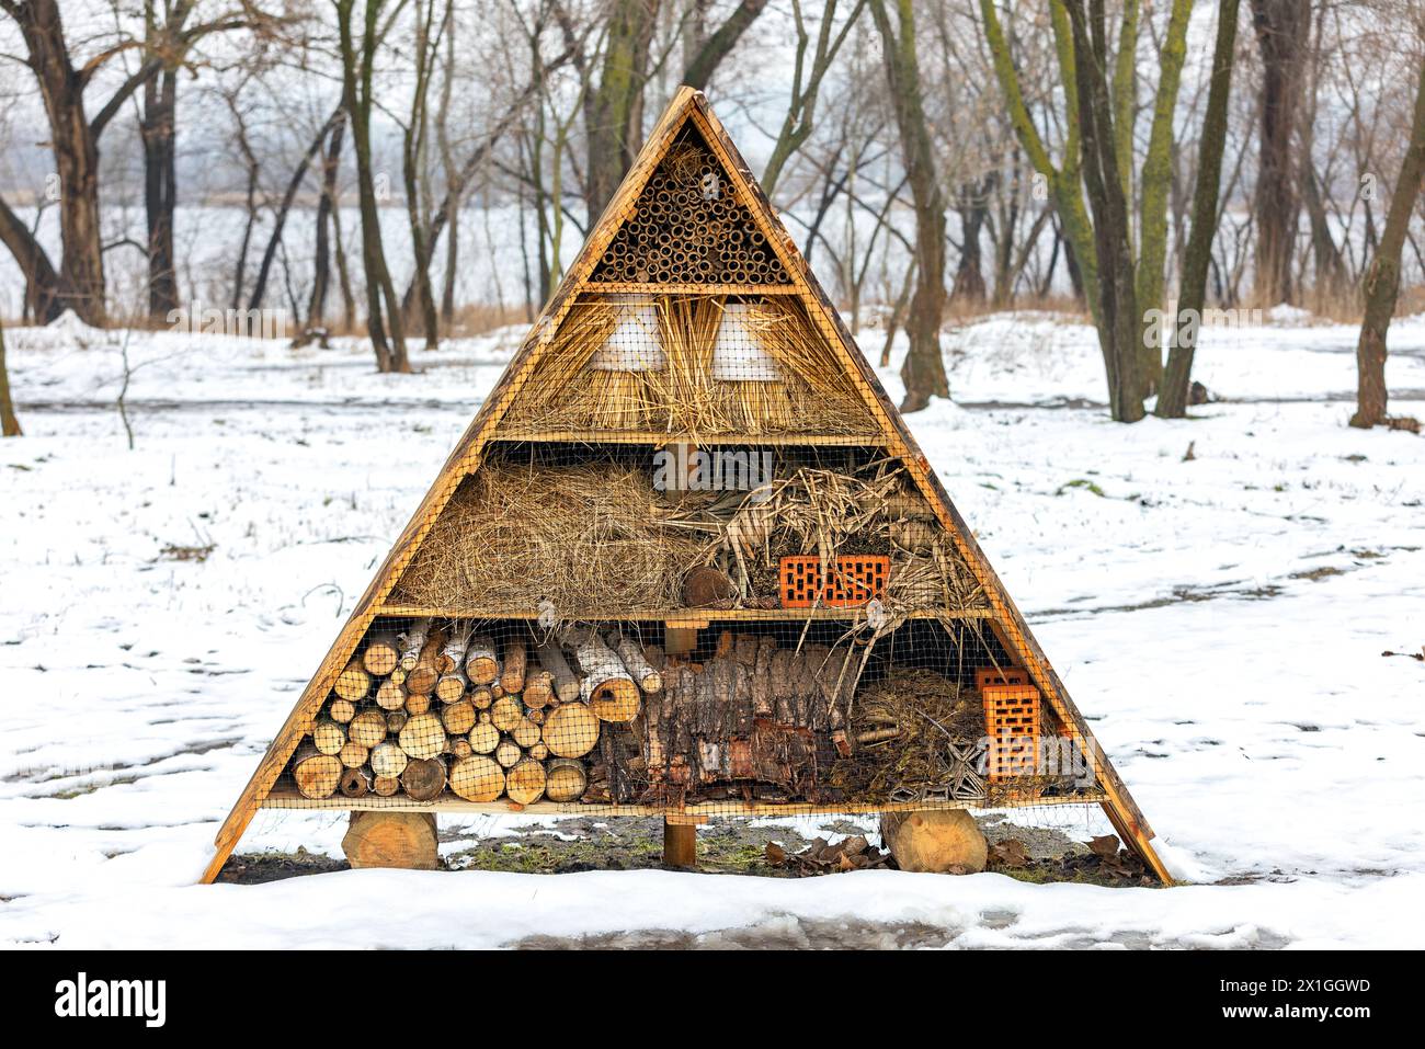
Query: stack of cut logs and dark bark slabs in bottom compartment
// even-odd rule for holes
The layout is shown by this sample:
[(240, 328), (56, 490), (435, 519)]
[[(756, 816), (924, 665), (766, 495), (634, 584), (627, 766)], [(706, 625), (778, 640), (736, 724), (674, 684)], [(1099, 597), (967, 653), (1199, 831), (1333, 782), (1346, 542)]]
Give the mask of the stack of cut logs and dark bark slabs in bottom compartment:
[(587, 626), (534, 646), (418, 620), (342, 670), (289, 775), (312, 800), (825, 798), (858, 653), (724, 633), (694, 661)]

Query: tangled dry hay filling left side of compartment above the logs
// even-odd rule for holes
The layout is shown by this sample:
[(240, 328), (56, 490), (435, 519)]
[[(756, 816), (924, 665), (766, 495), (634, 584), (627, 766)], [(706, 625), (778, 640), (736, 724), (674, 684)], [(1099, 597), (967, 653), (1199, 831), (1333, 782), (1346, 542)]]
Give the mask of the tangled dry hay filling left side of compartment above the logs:
[(492, 460), (440, 512), (396, 593), (452, 614), (534, 609), (678, 607), (703, 540), (651, 513), (647, 469)]

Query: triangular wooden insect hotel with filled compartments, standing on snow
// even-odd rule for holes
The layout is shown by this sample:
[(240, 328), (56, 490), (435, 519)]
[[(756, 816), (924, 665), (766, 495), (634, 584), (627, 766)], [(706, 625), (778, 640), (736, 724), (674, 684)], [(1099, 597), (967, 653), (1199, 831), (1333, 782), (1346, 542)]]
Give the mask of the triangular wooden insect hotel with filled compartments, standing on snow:
[[(224, 822), (1102, 805), (1099, 748), (684, 88)], [(410, 820), (409, 815), (402, 817)], [(373, 832), (373, 831), (372, 831)], [(352, 835), (348, 834), (348, 838)]]

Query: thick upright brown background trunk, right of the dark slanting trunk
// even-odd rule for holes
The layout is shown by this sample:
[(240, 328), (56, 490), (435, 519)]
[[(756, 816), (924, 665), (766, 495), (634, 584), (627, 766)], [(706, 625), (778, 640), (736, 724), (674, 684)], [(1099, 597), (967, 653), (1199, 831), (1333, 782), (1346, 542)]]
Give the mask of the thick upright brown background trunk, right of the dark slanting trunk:
[(1291, 257), (1301, 198), (1292, 137), (1301, 108), (1311, 0), (1251, 0), (1261, 51), (1261, 145), (1257, 164), (1257, 299), (1292, 302)]

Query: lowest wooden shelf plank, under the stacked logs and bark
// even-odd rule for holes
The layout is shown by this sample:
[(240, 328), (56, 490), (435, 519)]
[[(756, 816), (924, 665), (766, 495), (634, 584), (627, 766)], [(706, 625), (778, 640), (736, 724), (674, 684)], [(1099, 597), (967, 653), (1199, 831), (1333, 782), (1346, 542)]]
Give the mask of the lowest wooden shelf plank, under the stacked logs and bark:
[(871, 812), (922, 812), (928, 810), (953, 808), (1027, 808), (1030, 805), (1097, 805), (1103, 801), (1100, 791), (1083, 794), (1066, 794), (1043, 798), (1025, 798), (996, 801), (985, 804), (980, 801), (885, 801), (875, 802), (842, 802), (814, 805), (801, 801), (705, 801), (683, 808), (665, 808), (663, 805), (613, 805), (613, 804), (584, 804), (580, 801), (554, 802), (537, 801), (533, 805), (517, 805), (513, 801), (465, 801), (453, 794), (443, 794), (435, 801), (412, 801), (405, 797), (392, 798), (343, 798), (332, 797), (314, 801), (304, 798), (294, 790), (275, 790), (262, 801), (262, 808), (299, 808), (325, 811), (379, 811), (379, 812), (463, 812), (466, 815), (661, 815), (677, 821), (678, 818), (707, 820), (715, 815), (725, 817), (768, 817), (768, 815), (865, 815)]

